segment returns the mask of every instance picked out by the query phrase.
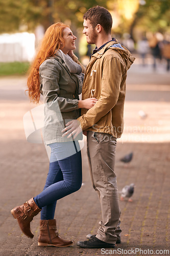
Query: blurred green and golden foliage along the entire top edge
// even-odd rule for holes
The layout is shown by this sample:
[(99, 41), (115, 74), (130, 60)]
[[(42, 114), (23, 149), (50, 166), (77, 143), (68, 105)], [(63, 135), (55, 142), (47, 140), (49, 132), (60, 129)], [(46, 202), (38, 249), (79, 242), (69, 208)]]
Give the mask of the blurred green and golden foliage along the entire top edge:
[[(138, 10), (127, 19), (132, 9), (127, 8), (136, 3), (140, 3)], [(33, 32), (39, 24), (46, 29), (56, 22), (82, 27), (83, 14), (95, 5), (109, 7), (111, 12), (118, 13), (119, 23), (114, 31), (119, 34), (133, 34), (135, 27), (153, 32), (164, 32), (170, 27), (169, 0), (0, 0), (0, 33)]]

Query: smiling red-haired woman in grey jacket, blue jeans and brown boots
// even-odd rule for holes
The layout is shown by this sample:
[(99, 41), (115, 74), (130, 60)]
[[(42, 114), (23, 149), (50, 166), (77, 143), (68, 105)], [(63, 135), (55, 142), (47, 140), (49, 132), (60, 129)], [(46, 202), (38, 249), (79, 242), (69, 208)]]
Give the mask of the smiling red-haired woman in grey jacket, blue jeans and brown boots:
[[(39, 246), (69, 246), (72, 241), (59, 237), (54, 219), (57, 200), (74, 193), (82, 184), (81, 151), (77, 140), (62, 137), (61, 130), (68, 119), (77, 119), (80, 108), (90, 109), (95, 98), (79, 100), (83, 82), (82, 69), (72, 50), (74, 36), (68, 26), (57, 23), (44, 35), (41, 47), (32, 63), (28, 77), (30, 99), (44, 100), (44, 141), (51, 147), (50, 168), (44, 190), (11, 214), (26, 236), (33, 238), (30, 222), (41, 211)], [(69, 55), (72, 57), (70, 57)]]

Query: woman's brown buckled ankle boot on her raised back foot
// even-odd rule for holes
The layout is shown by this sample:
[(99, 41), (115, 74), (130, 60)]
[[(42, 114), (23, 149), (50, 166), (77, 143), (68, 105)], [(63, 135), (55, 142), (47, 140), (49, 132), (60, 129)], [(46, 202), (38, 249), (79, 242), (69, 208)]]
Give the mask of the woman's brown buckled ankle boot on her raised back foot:
[(18, 224), (22, 232), (29, 238), (33, 238), (34, 234), (30, 229), (30, 222), (33, 217), (40, 212), (41, 209), (36, 205), (34, 199), (31, 198), (26, 203), (16, 206), (11, 210), (11, 214), (17, 219)]

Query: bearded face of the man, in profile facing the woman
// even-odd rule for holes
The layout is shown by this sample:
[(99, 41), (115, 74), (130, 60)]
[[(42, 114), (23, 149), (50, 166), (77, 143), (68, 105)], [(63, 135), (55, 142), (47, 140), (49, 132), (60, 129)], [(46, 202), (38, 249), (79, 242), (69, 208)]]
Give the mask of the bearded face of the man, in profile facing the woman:
[(92, 27), (89, 19), (84, 19), (83, 22), (83, 34), (86, 36), (87, 43), (89, 45), (93, 45), (96, 43), (96, 38), (98, 37), (98, 33), (95, 31), (95, 28)]

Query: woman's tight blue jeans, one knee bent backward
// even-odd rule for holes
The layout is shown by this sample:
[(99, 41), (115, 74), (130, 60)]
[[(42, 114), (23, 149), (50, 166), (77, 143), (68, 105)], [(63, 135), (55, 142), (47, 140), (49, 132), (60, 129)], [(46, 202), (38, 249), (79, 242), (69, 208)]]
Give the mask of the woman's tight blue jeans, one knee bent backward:
[(82, 185), (82, 158), (78, 141), (49, 144), (51, 158), (43, 191), (34, 198), (41, 220), (54, 219), (57, 200), (79, 190)]

